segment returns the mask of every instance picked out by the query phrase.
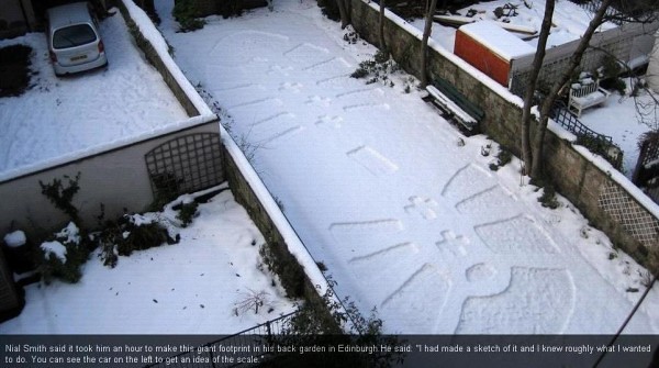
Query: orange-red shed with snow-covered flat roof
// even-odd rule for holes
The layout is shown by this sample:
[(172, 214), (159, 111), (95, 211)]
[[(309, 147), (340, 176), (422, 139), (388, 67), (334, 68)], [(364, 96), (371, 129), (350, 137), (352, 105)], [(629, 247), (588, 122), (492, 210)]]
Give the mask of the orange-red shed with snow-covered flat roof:
[(502, 86), (509, 87), (513, 62), (534, 54), (535, 48), (495, 22), (481, 21), (458, 29), (454, 52)]

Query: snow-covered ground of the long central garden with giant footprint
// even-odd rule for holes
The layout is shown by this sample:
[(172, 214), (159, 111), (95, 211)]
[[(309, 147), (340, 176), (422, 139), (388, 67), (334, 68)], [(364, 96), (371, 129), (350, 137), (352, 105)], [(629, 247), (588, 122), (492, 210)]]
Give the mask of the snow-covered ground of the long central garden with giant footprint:
[[(583, 249), (603, 249), (601, 233), (580, 236), (571, 205), (543, 209), (514, 165), (488, 169), (488, 141), (458, 145), (401, 78), (394, 88), (349, 78), (375, 49), (345, 43), (315, 1), (187, 34), (174, 32), (169, 2), (158, 7), (177, 63), (249, 142), (339, 293), (377, 306), (388, 332), (614, 333), (630, 312), (638, 294), (602, 276), (606, 252)], [(647, 310), (627, 333), (659, 331)]]

